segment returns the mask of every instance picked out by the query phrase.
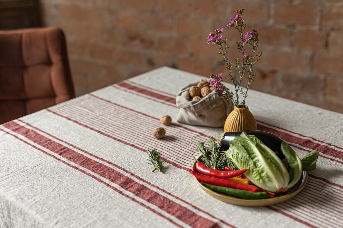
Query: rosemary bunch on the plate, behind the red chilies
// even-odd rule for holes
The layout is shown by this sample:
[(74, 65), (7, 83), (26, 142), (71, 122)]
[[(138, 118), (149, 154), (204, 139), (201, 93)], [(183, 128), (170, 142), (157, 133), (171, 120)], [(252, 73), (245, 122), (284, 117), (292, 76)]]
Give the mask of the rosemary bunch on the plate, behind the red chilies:
[[(202, 141), (198, 142), (197, 151), (202, 154), (200, 161), (209, 168), (223, 170), (227, 163), (227, 158), (224, 154), (219, 152), (217, 142), (213, 140), (213, 138), (214, 137), (210, 136), (207, 140), (210, 147), (205, 147), (205, 143)], [(194, 160), (196, 159), (194, 158)]]

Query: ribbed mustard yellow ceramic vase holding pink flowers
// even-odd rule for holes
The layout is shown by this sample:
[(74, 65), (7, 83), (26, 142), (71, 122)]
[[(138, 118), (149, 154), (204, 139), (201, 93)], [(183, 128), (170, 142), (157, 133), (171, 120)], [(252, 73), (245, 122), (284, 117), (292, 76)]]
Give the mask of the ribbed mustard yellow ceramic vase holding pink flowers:
[(247, 105), (244, 108), (235, 107), (227, 116), (224, 131), (257, 130), (256, 120)]

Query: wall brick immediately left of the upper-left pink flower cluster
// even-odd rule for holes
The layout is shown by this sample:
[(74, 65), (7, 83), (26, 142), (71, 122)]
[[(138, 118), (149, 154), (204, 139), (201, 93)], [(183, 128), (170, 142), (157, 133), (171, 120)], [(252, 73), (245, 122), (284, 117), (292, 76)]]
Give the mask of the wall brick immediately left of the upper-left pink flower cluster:
[[(208, 20), (179, 17), (176, 22), (177, 33), (193, 39), (207, 39), (211, 32)], [(215, 29), (212, 29), (215, 30)]]

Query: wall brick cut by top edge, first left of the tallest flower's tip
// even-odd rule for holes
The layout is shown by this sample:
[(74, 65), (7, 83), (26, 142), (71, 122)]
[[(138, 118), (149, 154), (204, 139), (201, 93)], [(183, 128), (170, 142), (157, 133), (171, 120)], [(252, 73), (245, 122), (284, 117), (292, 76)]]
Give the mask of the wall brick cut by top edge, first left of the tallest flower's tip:
[(190, 12), (206, 17), (225, 17), (226, 8), (225, 0), (197, 0), (192, 2)]

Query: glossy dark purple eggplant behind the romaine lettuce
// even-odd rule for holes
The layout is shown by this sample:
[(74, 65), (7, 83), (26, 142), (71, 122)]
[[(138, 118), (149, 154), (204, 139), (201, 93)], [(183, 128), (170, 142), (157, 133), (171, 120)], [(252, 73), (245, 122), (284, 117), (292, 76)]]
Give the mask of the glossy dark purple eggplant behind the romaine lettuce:
[(242, 134), (242, 132), (245, 132), (248, 135), (256, 136), (267, 147), (269, 147), (272, 151), (274, 151), (281, 160), (286, 158), (281, 151), (281, 143), (283, 142), (283, 140), (272, 133), (265, 132), (265, 131), (258, 131), (258, 130), (232, 131), (232, 132), (224, 132), (220, 134), (218, 136), (217, 142), (221, 146), (221, 150), (229, 149), (230, 147), (229, 142), (233, 140), (235, 137), (240, 137), (240, 134)]

